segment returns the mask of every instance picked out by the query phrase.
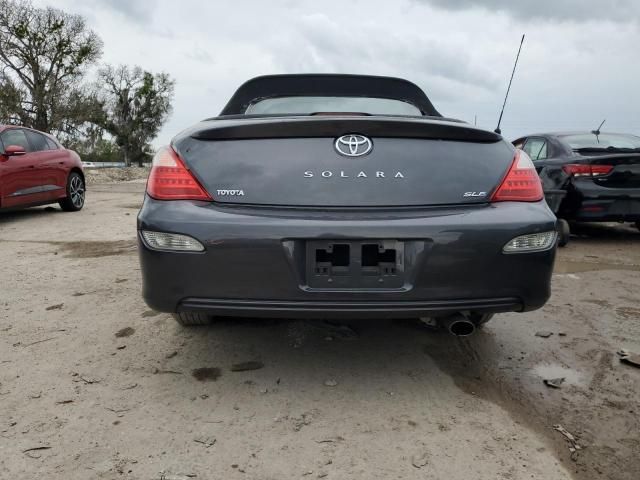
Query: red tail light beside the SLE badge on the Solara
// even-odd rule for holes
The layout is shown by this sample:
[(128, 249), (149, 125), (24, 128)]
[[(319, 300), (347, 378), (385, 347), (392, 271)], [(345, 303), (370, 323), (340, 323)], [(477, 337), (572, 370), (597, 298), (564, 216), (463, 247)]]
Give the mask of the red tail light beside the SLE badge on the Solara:
[(502, 183), (491, 196), (491, 201), (537, 202), (543, 196), (542, 183), (533, 162), (529, 155), (518, 150)]

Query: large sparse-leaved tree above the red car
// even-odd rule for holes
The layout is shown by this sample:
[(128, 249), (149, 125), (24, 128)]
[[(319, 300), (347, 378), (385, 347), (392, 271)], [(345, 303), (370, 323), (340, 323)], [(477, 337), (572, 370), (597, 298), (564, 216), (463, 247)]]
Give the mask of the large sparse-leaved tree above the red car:
[(0, 0), (0, 122), (78, 134), (101, 105), (81, 85), (102, 41), (79, 15)]

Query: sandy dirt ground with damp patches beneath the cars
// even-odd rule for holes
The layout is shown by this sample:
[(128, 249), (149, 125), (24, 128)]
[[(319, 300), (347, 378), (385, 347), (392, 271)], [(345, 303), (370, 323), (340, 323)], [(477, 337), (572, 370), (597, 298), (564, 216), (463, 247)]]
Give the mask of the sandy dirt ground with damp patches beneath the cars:
[(583, 227), (545, 308), (468, 339), (183, 329), (140, 297), (142, 182), (0, 215), (0, 478), (640, 478), (640, 369), (617, 355), (640, 353), (635, 229)]

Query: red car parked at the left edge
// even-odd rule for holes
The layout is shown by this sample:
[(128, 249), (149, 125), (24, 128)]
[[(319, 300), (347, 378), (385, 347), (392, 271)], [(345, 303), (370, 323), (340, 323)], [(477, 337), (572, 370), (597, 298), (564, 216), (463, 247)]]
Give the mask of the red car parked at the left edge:
[(0, 210), (59, 203), (67, 212), (84, 206), (80, 157), (51, 135), (0, 125)]

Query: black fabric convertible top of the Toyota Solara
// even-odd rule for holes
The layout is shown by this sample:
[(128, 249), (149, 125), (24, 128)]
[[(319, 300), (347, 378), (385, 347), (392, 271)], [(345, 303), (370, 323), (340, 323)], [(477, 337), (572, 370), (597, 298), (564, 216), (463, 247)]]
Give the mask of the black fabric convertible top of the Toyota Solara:
[(342, 74), (266, 75), (253, 78), (236, 90), (220, 115), (242, 115), (257, 100), (289, 96), (388, 98), (415, 105), (425, 116), (442, 116), (420, 87), (407, 80)]

